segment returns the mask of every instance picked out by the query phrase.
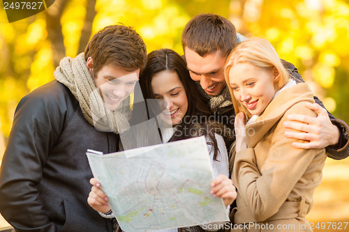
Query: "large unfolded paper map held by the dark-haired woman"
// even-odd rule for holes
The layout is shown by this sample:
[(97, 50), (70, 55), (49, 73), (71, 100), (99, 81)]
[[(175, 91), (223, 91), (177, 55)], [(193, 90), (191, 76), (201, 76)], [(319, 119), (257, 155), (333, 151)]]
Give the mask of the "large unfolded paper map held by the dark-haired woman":
[(123, 231), (229, 220), (223, 200), (210, 193), (205, 137), (87, 157)]

